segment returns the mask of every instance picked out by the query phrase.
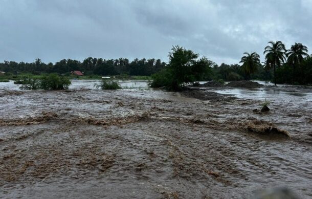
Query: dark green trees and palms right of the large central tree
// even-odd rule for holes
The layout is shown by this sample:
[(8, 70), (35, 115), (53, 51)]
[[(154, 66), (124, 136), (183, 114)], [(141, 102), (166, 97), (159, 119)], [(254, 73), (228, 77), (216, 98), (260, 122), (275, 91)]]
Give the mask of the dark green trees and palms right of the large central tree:
[(214, 79), (236, 81), (255, 79), (276, 83), (312, 84), (312, 56), (301, 43), (295, 43), (286, 50), (281, 41), (270, 41), (264, 48), (265, 61), (260, 64), (257, 53), (244, 53), (242, 65), (225, 63), (214, 65)]

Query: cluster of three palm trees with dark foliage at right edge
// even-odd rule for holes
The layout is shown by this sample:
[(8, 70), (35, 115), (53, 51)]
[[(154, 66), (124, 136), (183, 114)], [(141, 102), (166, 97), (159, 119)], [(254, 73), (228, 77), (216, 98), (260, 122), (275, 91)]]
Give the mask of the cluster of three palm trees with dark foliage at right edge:
[(265, 61), (260, 63), (260, 56), (255, 53), (244, 53), (240, 63), (246, 79), (263, 67), (266, 73), (273, 71), (274, 83), (306, 84), (312, 83), (312, 57), (308, 48), (302, 43), (295, 43), (286, 50), (282, 41), (270, 41), (264, 48)]

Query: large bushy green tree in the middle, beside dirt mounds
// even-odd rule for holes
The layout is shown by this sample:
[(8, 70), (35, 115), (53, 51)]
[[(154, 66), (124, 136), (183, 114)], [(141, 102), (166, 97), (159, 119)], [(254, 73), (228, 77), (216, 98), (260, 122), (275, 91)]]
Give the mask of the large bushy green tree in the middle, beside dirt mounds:
[(179, 91), (184, 84), (211, 78), (212, 61), (206, 57), (198, 59), (198, 54), (183, 47), (175, 46), (169, 53), (168, 65), (152, 76), (151, 87), (165, 87)]

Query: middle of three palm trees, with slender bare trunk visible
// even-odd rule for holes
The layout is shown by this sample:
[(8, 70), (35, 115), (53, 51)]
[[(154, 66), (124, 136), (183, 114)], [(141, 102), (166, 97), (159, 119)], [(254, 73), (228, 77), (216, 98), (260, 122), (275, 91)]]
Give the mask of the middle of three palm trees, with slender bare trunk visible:
[(281, 63), (285, 61), (284, 53), (286, 49), (281, 41), (270, 41), (268, 43), (269, 46), (264, 48), (263, 54), (266, 54), (265, 59), (273, 65), (274, 84), (276, 85), (276, 67), (280, 67)]

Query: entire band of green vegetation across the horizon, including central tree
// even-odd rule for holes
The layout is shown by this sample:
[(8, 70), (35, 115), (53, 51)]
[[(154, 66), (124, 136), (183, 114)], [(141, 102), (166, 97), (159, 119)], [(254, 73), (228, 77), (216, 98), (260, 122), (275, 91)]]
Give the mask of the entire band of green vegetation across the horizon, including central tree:
[[(45, 74), (57, 73), (77, 79), (101, 79), (114, 76), (123, 80), (150, 80), (153, 87), (181, 89), (184, 84), (197, 80), (265, 80), (275, 83), (312, 84), (312, 57), (301, 43), (295, 43), (289, 50), (281, 41), (270, 41), (264, 48), (264, 62), (260, 56), (244, 53), (239, 64), (214, 64), (207, 58), (198, 59), (198, 54), (182, 47), (173, 47), (169, 53), (169, 63), (160, 59), (126, 58), (102, 59), (88, 57), (82, 62), (63, 59), (55, 64), (43, 63), (36, 59), (33, 63), (4, 61), (0, 71), (6, 72), (0, 80), (10, 79), (26, 83), (30, 78), (42, 79)], [(209, 65), (209, 67), (207, 67)], [(82, 71), (84, 76), (71, 76), (71, 71)], [(19, 72), (18, 75), (15, 72)]]

